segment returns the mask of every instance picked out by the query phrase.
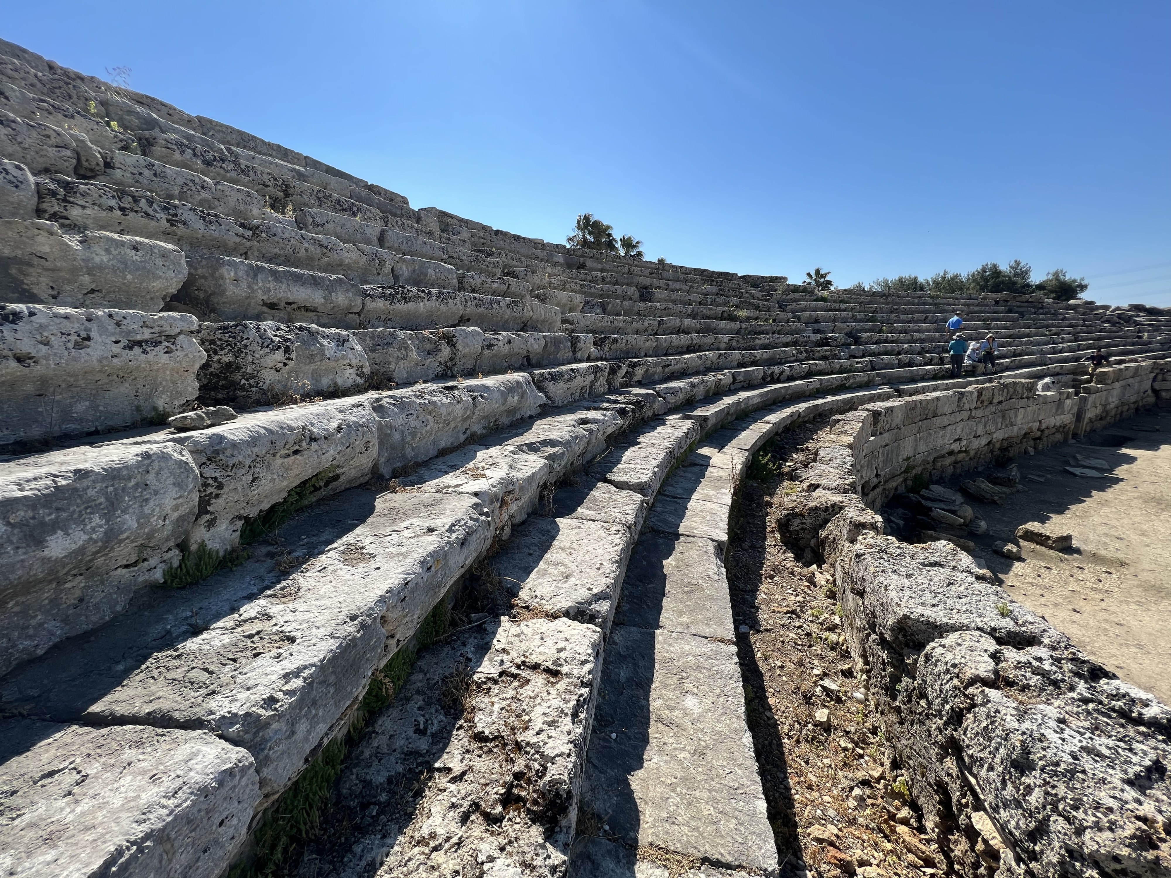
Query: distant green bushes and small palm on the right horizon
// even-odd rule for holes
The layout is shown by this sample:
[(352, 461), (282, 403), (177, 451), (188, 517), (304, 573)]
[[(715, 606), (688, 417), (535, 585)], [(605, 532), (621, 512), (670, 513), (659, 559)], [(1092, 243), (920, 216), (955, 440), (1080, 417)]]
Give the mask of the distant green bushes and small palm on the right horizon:
[[(806, 272), (804, 286), (813, 287), (819, 293), (834, 288), (829, 280), (830, 272), (821, 267)], [(963, 274), (943, 270), (930, 277), (917, 274), (900, 274), (898, 277), (878, 277), (870, 283), (858, 281), (852, 289), (864, 289), (870, 293), (926, 293), (929, 295), (1033, 295), (1040, 293), (1059, 302), (1078, 299), (1089, 283), (1084, 277), (1071, 277), (1064, 268), (1054, 268), (1042, 280), (1033, 281), (1033, 267), (1028, 262), (1014, 259), (1001, 268), (998, 262), (985, 262), (979, 268)]]

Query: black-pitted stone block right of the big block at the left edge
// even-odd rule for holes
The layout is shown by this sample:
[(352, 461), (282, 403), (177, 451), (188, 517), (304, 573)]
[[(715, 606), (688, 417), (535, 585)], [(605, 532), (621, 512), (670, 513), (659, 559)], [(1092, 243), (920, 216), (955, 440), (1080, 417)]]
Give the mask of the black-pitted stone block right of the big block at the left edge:
[(354, 336), (311, 323), (204, 323), (197, 335), (207, 361), (199, 399), (252, 409), (289, 399), (362, 390), (370, 364)]

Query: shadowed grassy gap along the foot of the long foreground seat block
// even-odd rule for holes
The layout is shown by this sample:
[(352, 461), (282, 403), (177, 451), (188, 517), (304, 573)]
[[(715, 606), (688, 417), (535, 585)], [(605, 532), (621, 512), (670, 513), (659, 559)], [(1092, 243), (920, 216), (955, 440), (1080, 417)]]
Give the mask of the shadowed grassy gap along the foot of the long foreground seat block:
[(451, 609), (447, 599), (443, 598), (423, 619), (412, 640), (374, 672), (347, 732), (322, 747), (293, 786), (269, 805), (253, 831), (252, 859), (233, 866), (228, 878), (275, 878), (288, 871), (301, 848), (317, 835), (350, 745), (362, 739), (370, 718), (395, 700), (415, 666), (419, 650), (446, 635), (450, 620)]

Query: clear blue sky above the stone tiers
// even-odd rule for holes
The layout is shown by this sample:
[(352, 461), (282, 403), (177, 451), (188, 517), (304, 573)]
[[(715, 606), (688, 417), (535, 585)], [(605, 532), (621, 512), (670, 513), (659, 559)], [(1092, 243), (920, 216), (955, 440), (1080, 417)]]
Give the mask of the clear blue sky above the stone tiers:
[(849, 284), (1020, 258), (1171, 306), (1171, 4), (54, 2), (5, 39), (563, 241)]

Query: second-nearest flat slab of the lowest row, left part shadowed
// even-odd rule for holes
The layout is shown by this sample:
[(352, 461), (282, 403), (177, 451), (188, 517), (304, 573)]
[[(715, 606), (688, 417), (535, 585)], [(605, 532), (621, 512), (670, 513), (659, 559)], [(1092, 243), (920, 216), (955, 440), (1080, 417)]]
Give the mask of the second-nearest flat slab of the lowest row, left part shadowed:
[(735, 637), (720, 546), (646, 533), (638, 540), (615, 622), (698, 637)]

